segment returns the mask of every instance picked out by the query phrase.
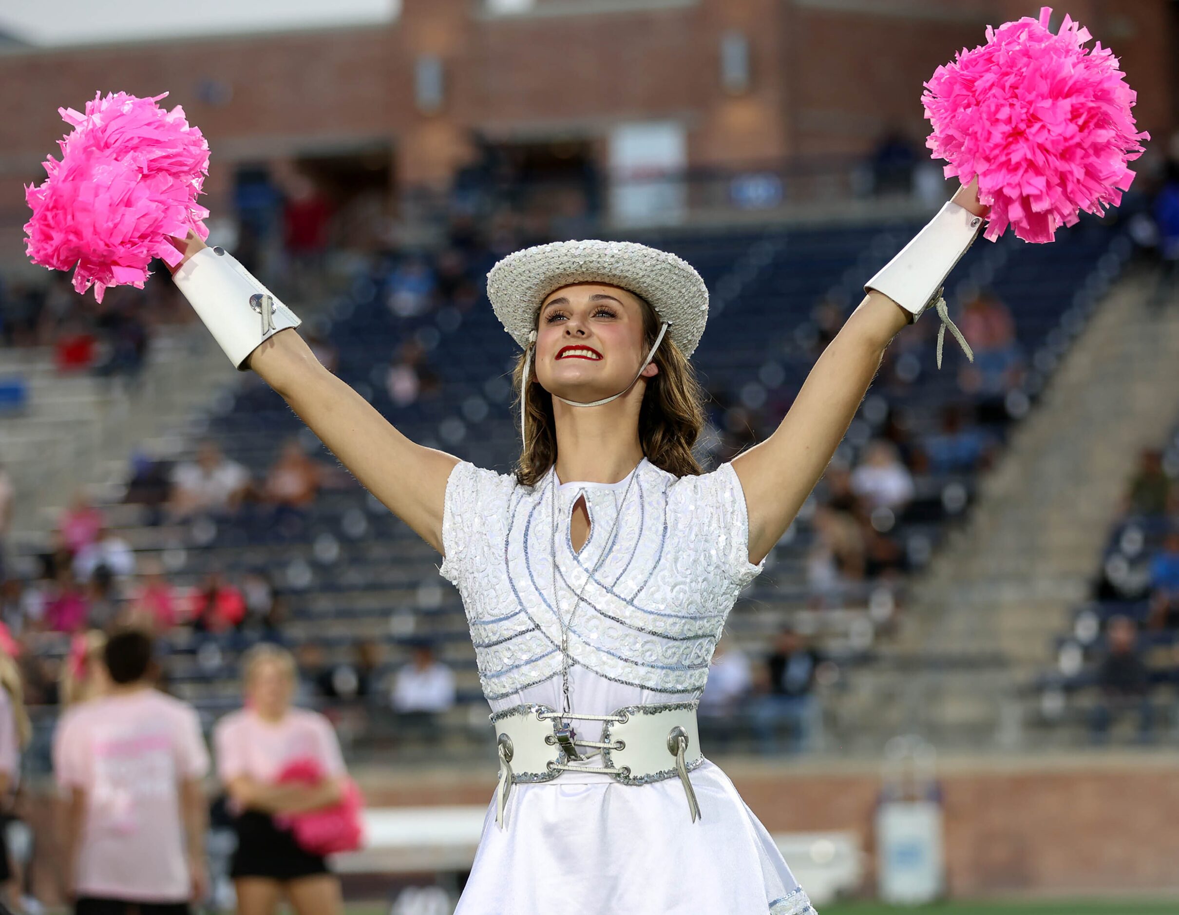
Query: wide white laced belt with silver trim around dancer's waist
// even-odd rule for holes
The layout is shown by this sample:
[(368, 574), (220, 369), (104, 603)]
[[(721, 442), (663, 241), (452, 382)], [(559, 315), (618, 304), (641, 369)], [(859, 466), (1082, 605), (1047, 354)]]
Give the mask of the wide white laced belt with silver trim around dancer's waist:
[[(678, 777), (694, 823), (700, 807), (687, 774), (704, 763), (696, 707), (696, 702), (627, 705), (611, 715), (584, 715), (529, 703), (495, 712), (489, 716), (500, 757), (495, 822), (503, 829), (513, 784), (552, 782), (564, 772), (593, 772), (625, 785)], [(572, 722), (585, 720), (601, 722), (601, 739), (577, 735)], [(598, 757), (605, 765), (578, 765)]]

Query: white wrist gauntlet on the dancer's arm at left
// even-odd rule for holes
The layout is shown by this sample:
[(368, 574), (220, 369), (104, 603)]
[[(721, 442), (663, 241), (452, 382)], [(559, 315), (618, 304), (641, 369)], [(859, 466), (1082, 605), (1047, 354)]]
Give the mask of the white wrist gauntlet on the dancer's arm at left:
[(303, 323), (224, 248), (200, 249), (172, 278), (241, 371), (263, 341)]

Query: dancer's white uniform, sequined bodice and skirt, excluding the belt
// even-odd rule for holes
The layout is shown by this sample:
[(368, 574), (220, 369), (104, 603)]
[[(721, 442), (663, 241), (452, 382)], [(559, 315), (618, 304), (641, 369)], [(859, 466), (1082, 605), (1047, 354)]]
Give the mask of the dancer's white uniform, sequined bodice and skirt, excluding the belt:
[[(579, 591), (573, 710), (699, 698), (729, 611), (764, 568), (749, 561), (744, 492), (730, 463), (677, 478), (644, 459), (632, 475), (615, 525), (630, 476), (562, 485), (549, 469), (528, 487), (466, 461), (452, 470), (439, 571), (462, 595), (493, 711), (561, 709), (561, 619)], [(590, 534), (577, 552), (569, 519), (581, 496)], [(573, 724), (599, 739), (600, 722)], [(562, 772), (514, 785), (505, 829), (488, 805), (455, 915), (812, 915), (729, 777), (705, 759), (691, 781), (694, 823), (678, 778), (624, 785)]]

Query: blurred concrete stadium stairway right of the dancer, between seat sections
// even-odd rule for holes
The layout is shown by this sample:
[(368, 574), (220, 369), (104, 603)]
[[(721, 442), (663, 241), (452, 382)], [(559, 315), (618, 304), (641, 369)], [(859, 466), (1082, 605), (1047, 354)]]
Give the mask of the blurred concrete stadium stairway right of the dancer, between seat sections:
[(1179, 302), (1152, 310), (1153, 283), (1144, 271), (1111, 289), (980, 481), (963, 527), (913, 581), (898, 638), (858, 684), (877, 723), (943, 740), (1023, 739), (1020, 684), (1085, 599), (1140, 449), (1179, 412)]

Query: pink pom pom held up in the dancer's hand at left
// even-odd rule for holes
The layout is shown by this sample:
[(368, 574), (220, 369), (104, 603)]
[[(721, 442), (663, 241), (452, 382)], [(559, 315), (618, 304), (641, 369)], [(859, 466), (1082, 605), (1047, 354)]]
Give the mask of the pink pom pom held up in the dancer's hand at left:
[(74, 289), (84, 294), (93, 284), (99, 302), (107, 287), (143, 289), (153, 257), (179, 263), (169, 236), (184, 238), (191, 229), (209, 237), (202, 222), (209, 210), (196, 202), (209, 173), (209, 143), (189, 126), (184, 108), (158, 107), (166, 92), (100, 94), (85, 114), (58, 108), (74, 127), (58, 140), (61, 162), (51, 156), (48, 177), (25, 189), (33, 210), (26, 254), (46, 268), (77, 268)]

